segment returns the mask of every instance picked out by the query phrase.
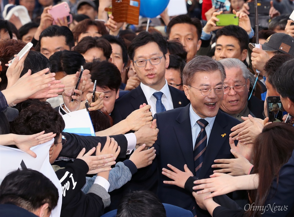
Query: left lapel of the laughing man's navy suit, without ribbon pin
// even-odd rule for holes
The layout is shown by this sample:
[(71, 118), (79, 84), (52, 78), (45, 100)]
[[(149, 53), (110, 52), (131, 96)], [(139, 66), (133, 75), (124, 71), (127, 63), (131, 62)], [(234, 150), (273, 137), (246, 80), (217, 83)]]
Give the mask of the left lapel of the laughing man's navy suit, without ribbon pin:
[(195, 175), (189, 107), (190, 103), (186, 107), (184, 107), (183, 110), (180, 112), (180, 114), (176, 118), (176, 121), (178, 121), (179, 124), (174, 126), (173, 129), (175, 131), (178, 144), (181, 148), (186, 164)]

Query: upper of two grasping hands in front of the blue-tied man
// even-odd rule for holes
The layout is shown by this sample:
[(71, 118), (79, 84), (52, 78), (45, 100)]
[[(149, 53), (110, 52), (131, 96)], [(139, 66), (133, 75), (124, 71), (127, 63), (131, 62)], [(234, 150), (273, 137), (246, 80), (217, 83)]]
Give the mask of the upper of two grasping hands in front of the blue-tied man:
[(130, 130), (136, 131), (152, 121), (153, 117), (150, 109), (151, 105), (143, 103), (139, 109), (133, 111), (128, 117), (126, 117), (125, 120), (127, 125), (130, 126)]

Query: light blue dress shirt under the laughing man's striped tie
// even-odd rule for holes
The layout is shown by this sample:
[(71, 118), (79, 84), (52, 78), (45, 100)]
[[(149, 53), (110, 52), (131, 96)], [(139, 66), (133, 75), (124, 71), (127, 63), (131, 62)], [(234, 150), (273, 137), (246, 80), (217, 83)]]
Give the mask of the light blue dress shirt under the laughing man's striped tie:
[[(209, 140), (209, 136), (211, 133), (211, 128), (213, 127), (213, 123), (214, 120), (216, 120), (216, 117), (206, 117), (206, 118), (201, 118), (199, 117), (193, 110), (192, 105), (190, 105), (190, 109), (189, 109), (189, 114), (190, 114), (190, 122), (191, 122), (191, 130), (192, 130), (192, 142), (193, 142), (193, 150), (194, 150), (194, 146), (195, 146), (195, 142), (197, 139), (197, 136), (201, 130), (201, 128), (199, 127), (199, 125), (197, 124), (197, 121), (199, 119), (205, 119), (208, 122), (208, 125), (205, 127), (205, 131), (207, 134), (207, 143)], [(207, 146), (207, 144), (206, 144)]]

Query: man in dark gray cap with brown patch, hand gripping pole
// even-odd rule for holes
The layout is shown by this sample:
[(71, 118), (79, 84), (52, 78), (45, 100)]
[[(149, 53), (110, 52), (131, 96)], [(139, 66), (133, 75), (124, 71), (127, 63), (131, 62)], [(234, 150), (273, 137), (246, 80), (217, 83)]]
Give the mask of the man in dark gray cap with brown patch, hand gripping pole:
[(294, 38), (285, 33), (275, 33), (268, 37), (260, 48), (255, 48), (255, 44), (250, 43), (252, 65), (263, 72), (263, 67), (267, 60), (276, 54), (285, 53), (294, 56)]

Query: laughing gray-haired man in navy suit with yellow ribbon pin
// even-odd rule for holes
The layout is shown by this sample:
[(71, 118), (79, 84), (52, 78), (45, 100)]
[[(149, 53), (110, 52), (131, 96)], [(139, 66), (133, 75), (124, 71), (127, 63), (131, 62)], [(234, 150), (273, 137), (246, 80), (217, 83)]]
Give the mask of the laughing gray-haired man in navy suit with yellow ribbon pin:
[[(213, 174), (215, 159), (230, 159), (230, 129), (240, 121), (219, 110), (224, 94), (225, 69), (219, 61), (196, 56), (183, 70), (183, 88), (191, 101), (186, 107), (158, 113), (159, 133), (154, 144), (156, 160), (149, 166), (158, 168), (158, 197), (190, 210), (197, 216), (209, 216), (196, 205), (192, 194), (178, 186), (164, 184), (168, 180), (162, 168), (171, 164), (183, 171), (184, 165), (199, 179)], [(196, 209), (194, 209), (194, 207)]]

